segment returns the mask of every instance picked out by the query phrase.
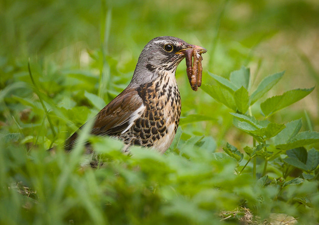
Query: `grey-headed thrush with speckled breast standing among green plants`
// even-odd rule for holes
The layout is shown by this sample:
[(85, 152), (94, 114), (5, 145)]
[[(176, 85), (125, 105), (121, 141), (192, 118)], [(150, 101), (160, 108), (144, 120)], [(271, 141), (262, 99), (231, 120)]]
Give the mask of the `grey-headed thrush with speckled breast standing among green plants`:
[[(91, 134), (121, 140), (123, 152), (138, 145), (164, 153), (179, 124), (181, 100), (175, 71), (188, 49), (207, 51), (172, 36), (160, 36), (148, 42), (130, 84), (94, 117)], [(66, 151), (75, 146), (84, 125), (65, 141)], [(90, 143), (85, 145), (91, 153)]]

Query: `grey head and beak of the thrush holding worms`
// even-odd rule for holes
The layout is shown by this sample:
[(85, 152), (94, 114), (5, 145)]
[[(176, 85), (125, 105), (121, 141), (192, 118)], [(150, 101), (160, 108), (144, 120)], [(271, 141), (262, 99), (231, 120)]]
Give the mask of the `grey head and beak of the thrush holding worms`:
[(136, 65), (131, 85), (151, 82), (167, 72), (174, 73), (178, 64), (185, 58), (185, 50), (203, 47), (188, 44), (177, 37), (161, 36), (152, 39), (142, 50)]

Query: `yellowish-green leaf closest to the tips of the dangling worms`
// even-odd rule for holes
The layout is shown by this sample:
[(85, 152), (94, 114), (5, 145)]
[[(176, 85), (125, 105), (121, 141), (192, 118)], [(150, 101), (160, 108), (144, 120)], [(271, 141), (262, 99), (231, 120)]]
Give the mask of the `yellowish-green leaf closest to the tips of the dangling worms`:
[(203, 84), (201, 88), (207, 94), (212, 96), (216, 101), (236, 111), (237, 107), (235, 104), (234, 96), (227, 88), (221, 85), (210, 85), (210, 84)]

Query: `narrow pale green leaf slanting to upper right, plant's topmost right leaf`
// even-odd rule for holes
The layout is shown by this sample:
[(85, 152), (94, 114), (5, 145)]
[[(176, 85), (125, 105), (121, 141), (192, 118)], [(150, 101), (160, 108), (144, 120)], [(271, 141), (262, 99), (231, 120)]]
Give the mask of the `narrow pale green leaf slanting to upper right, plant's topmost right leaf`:
[(250, 105), (254, 104), (258, 99), (263, 97), (263, 95), (269, 91), (277, 82), (282, 78), (285, 71), (280, 73), (275, 73), (273, 75), (267, 76), (264, 78), (257, 89), (250, 96)]

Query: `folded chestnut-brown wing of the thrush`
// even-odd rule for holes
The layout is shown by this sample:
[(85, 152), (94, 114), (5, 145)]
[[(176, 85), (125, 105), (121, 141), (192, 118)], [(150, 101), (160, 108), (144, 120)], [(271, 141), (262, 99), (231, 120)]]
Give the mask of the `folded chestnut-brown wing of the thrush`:
[[(135, 89), (126, 88), (96, 115), (91, 134), (115, 135), (124, 131), (130, 125), (134, 112), (142, 104), (143, 100), (138, 92)], [(72, 149), (77, 137), (78, 131), (65, 141), (65, 150)]]

